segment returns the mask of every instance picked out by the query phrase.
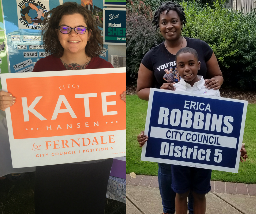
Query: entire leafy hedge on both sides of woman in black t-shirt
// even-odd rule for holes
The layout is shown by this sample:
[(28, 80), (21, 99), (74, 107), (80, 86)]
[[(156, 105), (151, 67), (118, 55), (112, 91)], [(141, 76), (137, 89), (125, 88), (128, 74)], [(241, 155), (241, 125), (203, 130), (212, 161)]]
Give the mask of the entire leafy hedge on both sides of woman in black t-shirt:
[[(256, 90), (256, 11), (243, 15), (218, 2), (212, 7), (195, 1), (180, 4), (187, 18), (182, 36), (199, 38), (211, 46), (223, 72), (224, 85)], [(127, 80), (130, 84), (136, 83), (145, 53), (163, 41), (159, 29), (151, 25), (149, 11), (150, 4), (140, 0), (130, 1), (127, 6)]]

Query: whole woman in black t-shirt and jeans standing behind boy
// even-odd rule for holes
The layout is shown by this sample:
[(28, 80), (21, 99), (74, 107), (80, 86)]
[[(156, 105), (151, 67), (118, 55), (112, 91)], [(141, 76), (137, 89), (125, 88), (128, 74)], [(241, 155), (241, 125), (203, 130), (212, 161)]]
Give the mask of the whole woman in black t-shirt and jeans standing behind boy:
[[(142, 59), (137, 81), (137, 95), (139, 98), (148, 100), (150, 88), (155, 86), (161, 89), (175, 90), (173, 83), (164, 83), (164, 70), (176, 65), (175, 55), (184, 47), (194, 48), (198, 52), (199, 61), (203, 67), (200, 69), (202, 73), (199, 75), (205, 78), (205, 87), (220, 89), (223, 77), (216, 56), (206, 42), (181, 36), (182, 27), (185, 26), (186, 22), (184, 9), (174, 2), (164, 2), (156, 10), (153, 23), (156, 28), (160, 28), (165, 41), (152, 48)], [(140, 146), (143, 146), (141, 142), (145, 142), (144, 138), (146, 137), (144, 133), (138, 136)], [(171, 165), (165, 163), (159, 163), (158, 165), (163, 212), (171, 214), (175, 212), (175, 192), (171, 188)], [(188, 210), (190, 214), (193, 214), (193, 196), (189, 194), (188, 197)], [(176, 212), (182, 212), (178, 209), (176, 207)]]

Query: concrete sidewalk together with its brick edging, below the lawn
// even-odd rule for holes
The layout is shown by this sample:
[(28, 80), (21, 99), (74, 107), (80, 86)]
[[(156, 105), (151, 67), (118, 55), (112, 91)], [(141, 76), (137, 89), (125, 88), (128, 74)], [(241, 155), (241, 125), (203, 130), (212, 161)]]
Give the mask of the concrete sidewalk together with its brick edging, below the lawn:
[[(162, 214), (158, 177), (126, 175), (127, 214)], [(211, 181), (206, 214), (255, 214), (256, 185)]]

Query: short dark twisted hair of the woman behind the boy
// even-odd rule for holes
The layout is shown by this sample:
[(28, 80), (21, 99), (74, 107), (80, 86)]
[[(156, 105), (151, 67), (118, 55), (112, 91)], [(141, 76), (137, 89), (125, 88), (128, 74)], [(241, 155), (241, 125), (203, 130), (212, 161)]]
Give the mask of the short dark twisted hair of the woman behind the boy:
[(170, 11), (170, 10), (174, 10), (178, 13), (179, 18), (181, 20), (181, 23), (186, 26), (187, 20), (185, 17), (185, 12), (184, 12), (184, 8), (172, 1), (167, 1), (167, 2), (160, 2), (160, 6), (157, 8), (155, 14), (154, 14), (154, 18), (152, 23), (154, 23), (154, 25), (156, 26), (156, 29), (159, 27), (159, 18), (160, 18), (160, 14), (162, 14), (163, 11), (166, 10), (166, 14)]

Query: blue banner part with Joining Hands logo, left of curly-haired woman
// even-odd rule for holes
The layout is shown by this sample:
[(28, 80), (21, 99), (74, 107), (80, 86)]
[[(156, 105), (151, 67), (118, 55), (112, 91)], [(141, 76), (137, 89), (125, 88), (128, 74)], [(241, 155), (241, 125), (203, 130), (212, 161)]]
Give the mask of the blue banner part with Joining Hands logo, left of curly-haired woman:
[(2, 0), (10, 73), (32, 72), (45, 53), (40, 29), (45, 14), (59, 0)]

